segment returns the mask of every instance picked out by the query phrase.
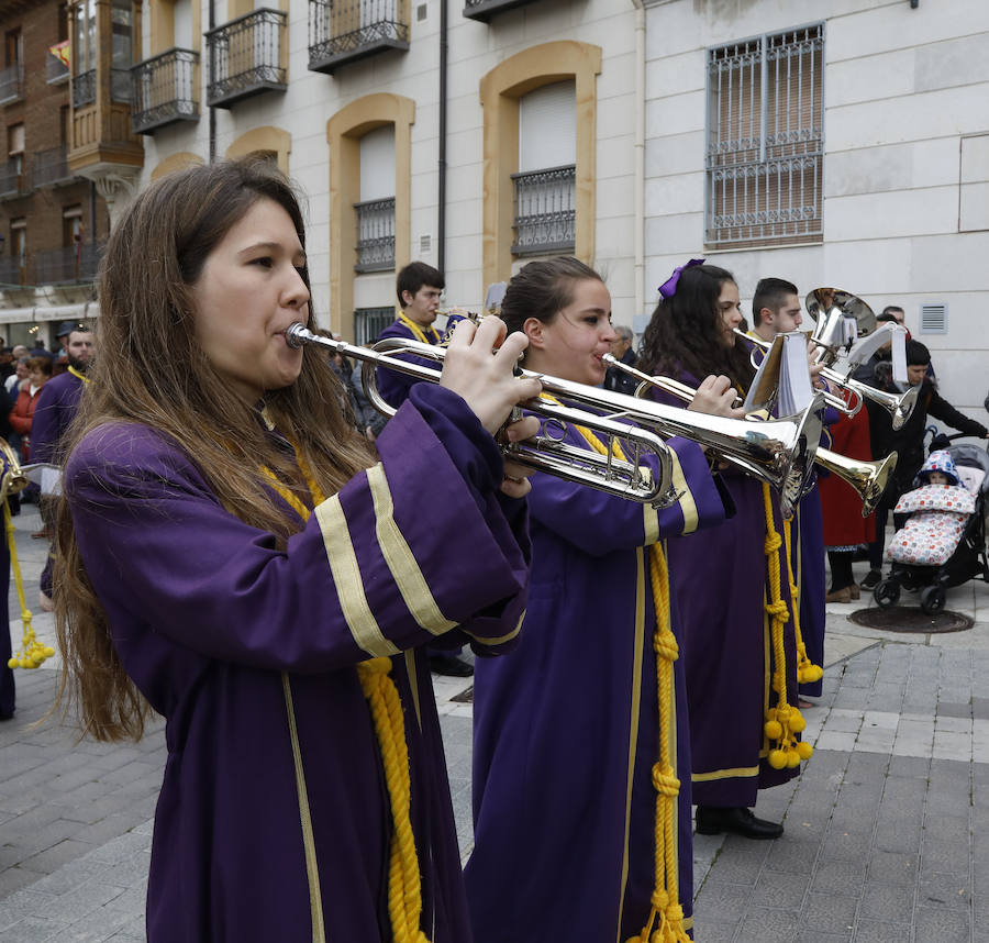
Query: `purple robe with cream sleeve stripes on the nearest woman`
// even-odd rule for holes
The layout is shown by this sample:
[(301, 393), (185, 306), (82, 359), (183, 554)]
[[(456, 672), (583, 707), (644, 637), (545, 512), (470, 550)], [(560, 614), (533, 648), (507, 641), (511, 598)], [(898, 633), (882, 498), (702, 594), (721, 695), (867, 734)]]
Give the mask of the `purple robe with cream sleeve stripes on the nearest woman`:
[(412, 390), (378, 450), (381, 462), (300, 520), (284, 551), (227, 513), (195, 461), (152, 429), (103, 425), (68, 461), (114, 648), (167, 719), (148, 943), (312, 943), (318, 908), (329, 941), (391, 940), (389, 795), (356, 670), (373, 655), (392, 656), (403, 708), (422, 929), (469, 943), (421, 646), (453, 625), (478, 651), (514, 643), (525, 502), (500, 493), (493, 439), (437, 386)]

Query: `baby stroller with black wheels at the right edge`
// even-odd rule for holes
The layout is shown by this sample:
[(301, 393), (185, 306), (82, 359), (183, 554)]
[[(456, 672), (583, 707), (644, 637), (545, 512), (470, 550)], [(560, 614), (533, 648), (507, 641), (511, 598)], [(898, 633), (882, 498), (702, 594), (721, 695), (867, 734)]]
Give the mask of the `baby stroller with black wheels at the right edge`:
[(937, 436), (931, 450), (946, 448), (954, 461), (963, 484), (975, 495), (975, 513), (969, 515), (958, 545), (941, 566), (910, 566), (893, 563), (890, 574), (873, 590), (876, 604), (884, 609), (900, 601), (900, 590), (920, 590), (921, 609), (933, 615), (944, 609), (947, 588), (960, 586), (981, 577), (989, 583), (989, 559), (986, 556), (986, 511), (989, 495), (989, 452), (976, 445), (951, 445), (952, 439)]

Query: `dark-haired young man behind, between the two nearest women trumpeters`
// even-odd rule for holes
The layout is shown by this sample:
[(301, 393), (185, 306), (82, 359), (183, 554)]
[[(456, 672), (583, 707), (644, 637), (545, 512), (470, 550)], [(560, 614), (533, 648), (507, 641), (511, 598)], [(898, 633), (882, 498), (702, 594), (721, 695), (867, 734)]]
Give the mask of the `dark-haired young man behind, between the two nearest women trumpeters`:
[[(396, 279), (396, 295), (402, 310), (398, 318), (378, 335), (378, 340), (405, 337), (423, 344), (438, 344), (442, 339), (440, 332), (433, 326), (433, 322), (436, 320), (436, 310), (445, 287), (446, 280), (443, 278), (443, 274), (424, 262), (412, 262), (402, 268)], [(438, 367), (437, 364), (429, 360), (421, 360), (421, 363), (434, 368)], [(405, 401), (409, 389), (414, 382), (416, 380), (407, 374), (384, 367), (378, 368), (378, 391), (387, 403), (396, 408)], [(459, 648), (451, 650), (431, 645), (430, 668), (437, 675), (456, 678), (470, 677), (474, 674), (474, 667), (459, 655)]]

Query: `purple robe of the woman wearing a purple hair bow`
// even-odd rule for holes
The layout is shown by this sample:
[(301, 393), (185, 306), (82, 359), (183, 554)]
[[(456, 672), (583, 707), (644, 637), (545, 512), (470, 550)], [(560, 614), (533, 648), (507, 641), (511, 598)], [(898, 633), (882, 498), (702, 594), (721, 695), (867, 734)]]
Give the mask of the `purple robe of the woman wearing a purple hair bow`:
[[(675, 379), (697, 387), (686, 371)], [(684, 403), (667, 393), (655, 398)], [(670, 581), (680, 606), (687, 679), (693, 801), (698, 806), (755, 806), (759, 789), (799, 774), (774, 769), (763, 725), (776, 707), (770, 688), (775, 664), (765, 610), (767, 563), (763, 486), (733, 469), (723, 476), (736, 514), (723, 526), (669, 541)], [(773, 492), (774, 496), (776, 492)], [(782, 539), (779, 502), (774, 524)], [(790, 604), (786, 559), (780, 552), (782, 598)], [(784, 629), (787, 698), (797, 703), (797, 643)]]

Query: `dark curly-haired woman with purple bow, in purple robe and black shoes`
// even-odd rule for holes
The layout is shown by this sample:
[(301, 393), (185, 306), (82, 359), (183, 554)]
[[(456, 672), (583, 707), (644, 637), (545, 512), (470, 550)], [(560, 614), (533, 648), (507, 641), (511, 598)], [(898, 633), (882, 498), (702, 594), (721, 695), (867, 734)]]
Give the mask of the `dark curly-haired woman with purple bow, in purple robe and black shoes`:
[[(735, 344), (733, 330), (742, 314), (731, 273), (692, 259), (659, 291), (640, 368), (694, 386), (697, 377), (716, 371), (745, 390), (754, 370), (748, 350)], [(788, 737), (796, 732), (791, 720), (802, 725), (796, 707), (796, 642), (792, 623), (782, 622), (792, 611), (792, 579), (768, 486), (737, 473), (724, 477), (736, 515), (716, 530), (669, 542), (684, 625), (697, 830), (775, 839), (782, 825), (757, 819), (749, 807), (759, 789), (797, 772), (797, 747)], [(781, 702), (788, 708), (787, 729), (770, 740), (768, 733), (777, 732), (770, 723), (781, 724), (774, 713)], [(780, 762), (782, 768), (776, 768)]]

